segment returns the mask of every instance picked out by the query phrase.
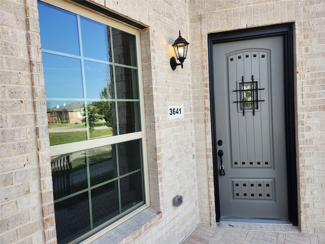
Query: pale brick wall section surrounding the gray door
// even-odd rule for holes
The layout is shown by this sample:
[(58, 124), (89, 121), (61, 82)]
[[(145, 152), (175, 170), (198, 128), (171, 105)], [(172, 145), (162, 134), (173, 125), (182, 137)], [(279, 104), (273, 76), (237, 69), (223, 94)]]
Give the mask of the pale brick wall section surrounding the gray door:
[[(204, 126), (196, 130), (196, 149), (201, 221), (213, 216), (211, 123), (207, 34), (277, 23), (295, 22), (296, 143), (298, 168), (299, 225), (302, 232), (324, 232), (325, 227), (325, 3), (323, 1), (189, 1), (191, 37), (191, 80), (194, 121)], [(204, 115), (205, 120), (202, 120)], [(199, 135), (198, 135), (199, 132)], [(206, 150), (204, 150), (206, 148)], [(206, 166), (207, 164), (207, 166)], [(201, 172), (200, 172), (201, 171)], [(206, 195), (210, 196), (208, 205)], [(207, 208), (210, 208), (209, 210)], [(213, 223), (213, 218), (211, 218)]]

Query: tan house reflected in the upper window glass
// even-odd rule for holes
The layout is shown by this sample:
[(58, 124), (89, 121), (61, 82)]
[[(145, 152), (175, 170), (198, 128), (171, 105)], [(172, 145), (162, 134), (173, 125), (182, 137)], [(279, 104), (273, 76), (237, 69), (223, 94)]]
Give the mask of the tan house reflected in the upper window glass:
[(81, 109), (83, 103), (63, 104), (64, 106), (56, 105), (54, 108), (47, 109), (48, 123), (57, 124), (81, 124), (83, 116)]

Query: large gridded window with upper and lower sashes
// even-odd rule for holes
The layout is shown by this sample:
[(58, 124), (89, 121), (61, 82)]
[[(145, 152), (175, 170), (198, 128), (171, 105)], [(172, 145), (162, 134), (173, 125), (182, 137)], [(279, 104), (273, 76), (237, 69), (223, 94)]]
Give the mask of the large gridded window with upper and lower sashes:
[(57, 240), (77, 242), (145, 204), (139, 34), (38, 8)]

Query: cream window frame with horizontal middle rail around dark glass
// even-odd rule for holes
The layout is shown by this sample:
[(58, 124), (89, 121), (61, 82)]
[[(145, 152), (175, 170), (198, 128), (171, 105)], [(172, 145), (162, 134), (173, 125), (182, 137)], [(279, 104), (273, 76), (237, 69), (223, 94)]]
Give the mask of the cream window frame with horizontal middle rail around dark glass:
[[(58, 156), (63, 154), (73, 153), (74, 151), (85, 150), (94, 147), (100, 147), (110, 144), (116, 144), (124, 141), (136, 140), (141, 139), (142, 141), (142, 168), (143, 168), (143, 185), (144, 185), (144, 205), (137, 208), (130, 214), (122, 217), (121, 219), (115, 221), (114, 223), (110, 224), (106, 228), (102, 229), (99, 232), (94, 233), (92, 236), (88, 237), (86, 240), (79, 242), (79, 243), (88, 243), (91, 240), (98, 238), (99, 236), (103, 235), (104, 233), (108, 232), (109, 230), (115, 228), (116, 226), (120, 225), (121, 223), (125, 222), (126, 220), (134, 217), (140, 211), (144, 210), (148, 206), (150, 206), (150, 195), (149, 195), (149, 172), (148, 172), (148, 158), (147, 158), (147, 140), (146, 140), (146, 125), (145, 125), (145, 109), (144, 109), (144, 92), (143, 92), (143, 79), (142, 79), (142, 58), (141, 58), (141, 42), (140, 42), (140, 31), (136, 28), (128, 26), (126, 24), (122, 24), (116, 22), (108, 17), (103, 16), (100, 13), (91, 12), (90, 10), (86, 10), (79, 6), (73, 5), (71, 3), (64, 2), (63, 0), (57, 1), (50, 1), (50, 0), (41, 0), (41, 2), (47, 3), (54, 7), (61, 8), (63, 10), (67, 10), (69, 12), (78, 14), (80, 16), (92, 19), (94, 21), (98, 21), (105, 25), (109, 25), (113, 28), (119, 29), (120, 31), (132, 34), (136, 38), (136, 53), (137, 53), (137, 68), (138, 68), (138, 85), (139, 85), (139, 99), (140, 99), (140, 118), (141, 118), (141, 131), (122, 134), (122, 135), (115, 135), (109, 136), (99, 139), (91, 139), (86, 141), (78, 141), (72, 142), (69, 144), (60, 144), (60, 145), (53, 145), (50, 146), (50, 154), (52, 156)], [(91, 231), (90, 231), (91, 232)], [(78, 240), (75, 239), (75, 241)], [(80, 241), (80, 240), (79, 240)], [(74, 241), (72, 241), (74, 242)]]

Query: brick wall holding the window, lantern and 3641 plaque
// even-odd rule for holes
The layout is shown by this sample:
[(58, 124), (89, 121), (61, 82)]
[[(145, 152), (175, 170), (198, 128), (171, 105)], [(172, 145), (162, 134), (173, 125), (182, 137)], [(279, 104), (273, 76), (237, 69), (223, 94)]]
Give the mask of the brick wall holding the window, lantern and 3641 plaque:
[[(189, 39), (187, 1), (134, 1), (132, 8), (129, 1), (94, 2), (149, 26), (141, 33), (141, 52), (150, 201), (163, 211), (163, 218), (140, 238), (181, 241), (199, 224), (190, 60), (184, 69), (172, 71), (169, 66), (178, 31)], [(1, 9), (0, 146), (2, 162), (10, 165), (4, 168), (2, 164), (1, 177), (6, 182), (2, 191), (12, 195), (2, 198), (5, 229), (1, 238), (4, 242), (51, 243), (56, 238), (37, 1), (2, 0), (1, 4), (6, 7)], [(7, 39), (6, 47), (3, 39)], [(14, 84), (9, 87), (8, 82)], [(184, 105), (184, 119), (168, 119), (170, 103)], [(11, 123), (14, 118), (16, 124)], [(12, 191), (16, 184), (21, 189)], [(172, 205), (176, 195), (184, 201), (178, 208)], [(31, 228), (27, 228), (28, 219), (34, 224)], [(28, 230), (28, 236), (22, 230)]]

